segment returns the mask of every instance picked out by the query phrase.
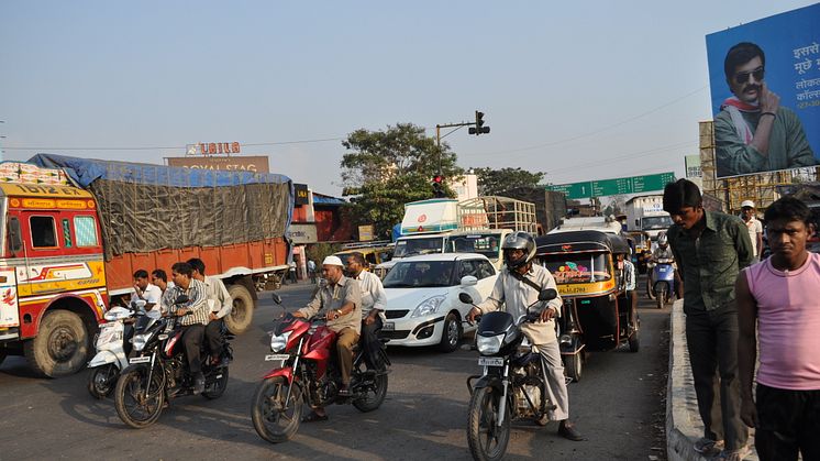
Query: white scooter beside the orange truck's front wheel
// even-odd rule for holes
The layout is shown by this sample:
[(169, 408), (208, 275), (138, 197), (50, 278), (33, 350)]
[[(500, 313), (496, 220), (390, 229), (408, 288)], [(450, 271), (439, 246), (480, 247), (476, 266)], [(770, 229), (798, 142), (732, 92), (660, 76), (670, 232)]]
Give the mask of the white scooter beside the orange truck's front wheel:
[[(97, 354), (88, 362), (88, 392), (95, 398), (104, 398), (110, 395), (117, 386), (120, 372), (129, 366), (126, 347), (131, 343), (125, 336), (125, 321), (136, 316), (145, 316), (145, 300), (131, 301), (131, 307), (115, 306), (109, 309), (103, 318), (107, 323), (100, 325), (100, 333), (97, 336)], [(129, 337), (133, 336), (134, 329), (129, 328)]]

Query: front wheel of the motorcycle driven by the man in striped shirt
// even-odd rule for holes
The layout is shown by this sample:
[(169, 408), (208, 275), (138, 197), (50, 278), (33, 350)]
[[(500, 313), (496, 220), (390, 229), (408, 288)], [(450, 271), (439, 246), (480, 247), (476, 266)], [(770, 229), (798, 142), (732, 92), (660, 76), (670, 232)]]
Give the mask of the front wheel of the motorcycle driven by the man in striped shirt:
[(157, 370), (151, 374), (147, 385), (148, 367), (126, 369), (117, 381), (114, 407), (123, 422), (134, 429), (148, 427), (159, 419), (165, 404), (165, 392), (162, 373)]

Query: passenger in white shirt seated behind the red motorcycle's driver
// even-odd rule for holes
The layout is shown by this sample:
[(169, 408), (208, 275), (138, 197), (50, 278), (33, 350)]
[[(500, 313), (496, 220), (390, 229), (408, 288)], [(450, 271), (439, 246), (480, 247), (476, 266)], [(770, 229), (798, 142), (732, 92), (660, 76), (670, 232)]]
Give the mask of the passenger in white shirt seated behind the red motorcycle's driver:
[(385, 308), (387, 307), (387, 294), (381, 285), (381, 279), (374, 273), (365, 271), (367, 261), (359, 252), (347, 256), (347, 276), (358, 281), (362, 288), (362, 342), (367, 362), (374, 370), (380, 369), (379, 351), (381, 342), (378, 332), (385, 322)]

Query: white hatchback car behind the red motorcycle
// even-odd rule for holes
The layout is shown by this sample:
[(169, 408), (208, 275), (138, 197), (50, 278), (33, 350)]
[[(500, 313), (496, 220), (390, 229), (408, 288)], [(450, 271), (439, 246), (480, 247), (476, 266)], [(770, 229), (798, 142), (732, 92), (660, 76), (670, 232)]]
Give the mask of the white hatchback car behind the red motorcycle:
[[(478, 304), (492, 292), (498, 273), (481, 254), (444, 253), (410, 256), (396, 262), (384, 279), (387, 321), (381, 334), (388, 345), (435, 345), (452, 352), (465, 330), (473, 306), (458, 300), (467, 293)], [(466, 328), (465, 328), (466, 327)]]

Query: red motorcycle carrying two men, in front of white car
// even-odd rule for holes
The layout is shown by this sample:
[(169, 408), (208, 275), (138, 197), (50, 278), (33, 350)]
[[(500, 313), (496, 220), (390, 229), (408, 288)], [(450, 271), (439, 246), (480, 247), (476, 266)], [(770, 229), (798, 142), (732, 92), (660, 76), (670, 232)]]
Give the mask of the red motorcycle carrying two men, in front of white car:
[[(278, 295), (274, 301), (281, 304)], [(364, 348), (354, 345), (350, 397), (339, 395), (341, 375), (335, 363), (336, 333), (324, 319), (301, 319), (286, 314), (270, 337), (265, 361), (279, 361), (256, 387), (251, 417), (263, 439), (279, 443), (291, 439), (302, 418), (304, 404), (312, 407), (353, 404), (363, 413), (381, 406), (387, 395), (387, 366), (390, 364), (381, 342), (378, 370), (367, 367)]]

